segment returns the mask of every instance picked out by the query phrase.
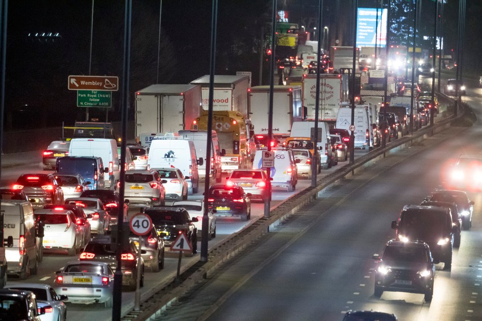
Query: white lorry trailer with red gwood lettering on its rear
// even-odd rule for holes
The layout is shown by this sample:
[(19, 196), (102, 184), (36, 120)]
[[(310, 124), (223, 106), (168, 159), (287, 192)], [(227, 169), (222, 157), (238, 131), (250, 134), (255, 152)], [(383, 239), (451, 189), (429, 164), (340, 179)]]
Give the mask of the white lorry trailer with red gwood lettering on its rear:
[[(204, 75), (190, 82), (201, 86), (202, 109), (209, 108), (209, 75)], [(249, 76), (214, 75), (213, 111), (239, 112), (245, 119), (250, 119), (248, 97)]]

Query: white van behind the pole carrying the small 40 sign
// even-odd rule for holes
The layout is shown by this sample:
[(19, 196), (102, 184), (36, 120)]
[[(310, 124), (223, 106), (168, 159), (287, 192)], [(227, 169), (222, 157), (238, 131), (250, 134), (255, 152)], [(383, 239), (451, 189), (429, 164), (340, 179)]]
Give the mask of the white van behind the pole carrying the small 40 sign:
[[(353, 122), (355, 126), (353, 147), (365, 148), (367, 151), (373, 148), (373, 125), (369, 109), (369, 105), (355, 105)], [(350, 125), (351, 108), (340, 108), (336, 117), (336, 128), (346, 129), (348, 132), (351, 132)]]

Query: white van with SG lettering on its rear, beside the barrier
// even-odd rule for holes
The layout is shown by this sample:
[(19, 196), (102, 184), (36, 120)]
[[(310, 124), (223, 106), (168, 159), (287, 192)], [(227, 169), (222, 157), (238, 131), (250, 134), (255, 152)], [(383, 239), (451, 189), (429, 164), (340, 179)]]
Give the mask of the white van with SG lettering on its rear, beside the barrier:
[[(295, 160), (293, 151), (286, 148), (273, 148), (275, 153), (275, 167), (271, 168), (271, 186), (286, 187), (288, 192), (292, 192), (298, 183), (298, 168), (296, 164), (300, 160)], [(266, 149), (257, 150), (253, 160), (253, 169), (264, 169), (262, 166), (263, 153)]]

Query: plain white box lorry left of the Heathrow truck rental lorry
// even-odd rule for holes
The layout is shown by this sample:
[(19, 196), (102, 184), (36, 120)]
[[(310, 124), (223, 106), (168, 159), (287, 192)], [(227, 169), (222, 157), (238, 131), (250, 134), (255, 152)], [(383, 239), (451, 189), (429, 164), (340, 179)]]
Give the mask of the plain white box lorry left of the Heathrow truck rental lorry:
[[(255, 134), (268, 134), (270, 86), (255, 86), (248, 91), (248, 105)], [(273, 88), (273, 135), (290, 136), (293, 122), (301, 121), (301, 87), (275, 85)]]

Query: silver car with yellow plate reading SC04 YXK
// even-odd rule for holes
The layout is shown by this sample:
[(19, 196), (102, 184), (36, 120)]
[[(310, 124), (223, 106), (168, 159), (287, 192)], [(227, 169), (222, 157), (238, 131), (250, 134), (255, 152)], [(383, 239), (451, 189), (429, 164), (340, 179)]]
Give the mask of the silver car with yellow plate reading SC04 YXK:
[(55, 272), (54, 289), (67, 295), (65, 302), (104, 303), (112, 307), (114, 271), (105, 262), (72, 261)]

